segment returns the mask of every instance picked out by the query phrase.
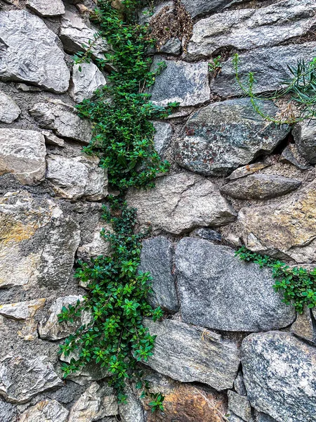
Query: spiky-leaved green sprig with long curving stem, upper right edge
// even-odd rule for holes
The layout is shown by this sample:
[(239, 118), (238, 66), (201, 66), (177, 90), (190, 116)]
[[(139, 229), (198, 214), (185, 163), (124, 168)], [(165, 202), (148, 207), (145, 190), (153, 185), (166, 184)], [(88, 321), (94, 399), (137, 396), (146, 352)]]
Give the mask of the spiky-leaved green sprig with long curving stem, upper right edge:
[[(296, 66), (289, 66), (291, 79), (280, 82), (280, 89), (273, 94), (256, 95), (254, 72), (249, 72), (246, 83), (239, 76), (239, 55), (236, 53), (232, 65), (235, 70), (235, 79), (245, 96), (250, 98), (251, 104), (258, 115), (275, 124), (294, 124), (303, 120), (316, 118), (316, 58), (309, 63), (298, 60)], [(260, 101), (273, 101), (288, 98), (285, 110), (278, 117), (271, 117), (261, 110)]]

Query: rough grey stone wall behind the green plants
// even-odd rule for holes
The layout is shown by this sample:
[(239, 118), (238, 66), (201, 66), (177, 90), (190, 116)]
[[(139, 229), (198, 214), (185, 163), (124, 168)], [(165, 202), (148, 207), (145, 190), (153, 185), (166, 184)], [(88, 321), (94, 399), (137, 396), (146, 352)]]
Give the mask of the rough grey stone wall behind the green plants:
[[(315, 265), (316, 125), (261, 120), (235, 84), (232, 56), (239, 51), (242, 75), (256, 72), (256, 92), (276, 89), (287, 65), (316, 56), (316, 2), (182, 2), (194, 23), (187, 51), (171, 39), (154, 53), (166, 69), (152, 101), (180, 102), (154, 122), (171, 171), (127, 196), (138, 226), (152, 224), (141, 269), (153, 276), (150, 302), (168, 316), (145, 321), (157, 340), (144, 368), (166, 397), (164, 414), (151, 414), (132, 385), (118, 405), (98, 368), (62, 381), (57, 354), (76, 328), (57, 314), (85, 292), (77, 260), (109, 253), (99, 236), (107, 172), (81, 152), (91, 125), (74, 109), (107, 74), (93, 62), (79, 72), (71, 59), (93, 40), (96, 5), (0, 0), (1, 422), (315, 421), (316, 313), (296, 316), (270, 270), (234, 250)], [(108, 48), (96, 43), (93, 58)], [(208, 63), (218, 55), (215, 77)]]

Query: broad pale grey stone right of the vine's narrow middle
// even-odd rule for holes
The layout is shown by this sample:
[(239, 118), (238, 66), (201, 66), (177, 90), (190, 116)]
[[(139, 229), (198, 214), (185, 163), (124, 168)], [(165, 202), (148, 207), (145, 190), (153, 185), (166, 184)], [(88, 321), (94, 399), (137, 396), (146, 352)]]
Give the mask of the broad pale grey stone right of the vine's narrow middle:
[(221, 226), (235, 220), (235, 211), (215, 184), (190, 172), (159, 177), (155, 188), (131, 189), (126, 199), (138, 209), (140, 224), (150, 222), (154, 234), (180, 234), (198, 226)]

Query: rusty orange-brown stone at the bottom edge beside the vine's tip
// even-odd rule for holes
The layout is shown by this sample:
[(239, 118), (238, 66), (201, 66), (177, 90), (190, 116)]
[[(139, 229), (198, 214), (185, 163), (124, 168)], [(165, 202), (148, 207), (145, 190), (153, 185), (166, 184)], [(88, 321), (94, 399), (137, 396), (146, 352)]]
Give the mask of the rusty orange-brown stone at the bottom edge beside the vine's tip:
[[(147, 376), (152, 392), (164, 395), (164, 411), (150, 411), (145, 401), (147, 422), (223, 422), (227, 414), (225, 396), (206, 386), (178, 383), (170, 378), (152, 374)], [(134, 422), (134, 421), (129, 421)]]

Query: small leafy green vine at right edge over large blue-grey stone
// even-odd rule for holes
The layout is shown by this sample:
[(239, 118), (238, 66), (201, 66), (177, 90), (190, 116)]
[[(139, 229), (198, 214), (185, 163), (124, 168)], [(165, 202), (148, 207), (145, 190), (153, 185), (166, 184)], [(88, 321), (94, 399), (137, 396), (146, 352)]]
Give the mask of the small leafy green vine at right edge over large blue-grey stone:
[(251, 252), (244, 246), (237, 250), (236, 255), (242, 261), (255, 262), (261, 268), (271, 268), (275, 279), (273, 287), (276, 291), (282, 291), (283, 302), (287, 305), (294, 304), (299, 314), (303, 312), (304, 305), (308, 308), (316, 306), (316, 269), (308, 271), (301, 267), (289, 267), (284, 262), (274, 260), (267, 255)]

